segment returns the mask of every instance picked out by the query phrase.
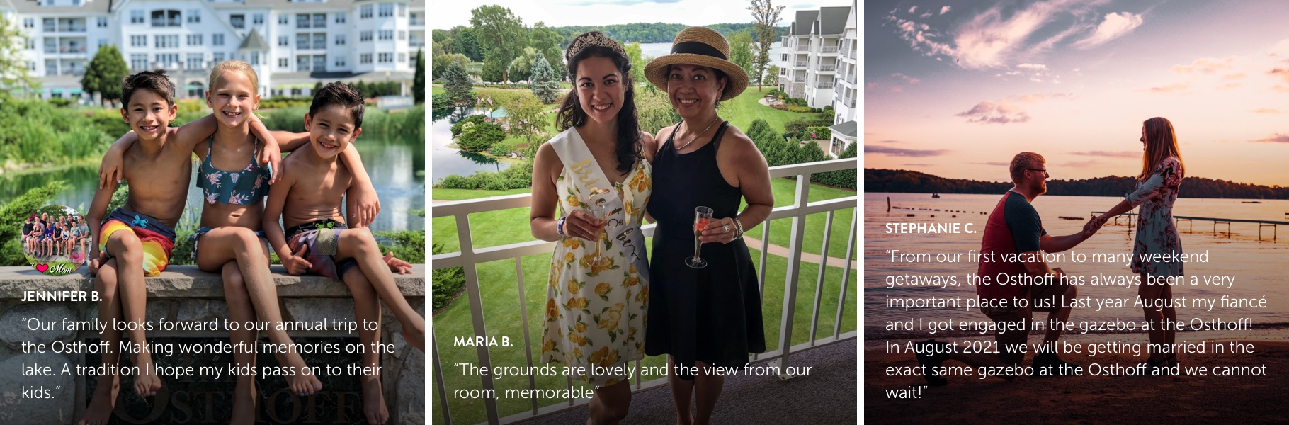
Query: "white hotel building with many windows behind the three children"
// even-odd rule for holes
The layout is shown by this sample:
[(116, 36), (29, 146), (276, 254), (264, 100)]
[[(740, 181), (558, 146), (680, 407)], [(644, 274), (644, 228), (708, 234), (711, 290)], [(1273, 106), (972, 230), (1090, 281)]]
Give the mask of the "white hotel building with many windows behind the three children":
[(0, 0), (0, 10), (26, 36), (45, 98), (89, 95), (80, 79), (110, 44), (130, 72), (166, 70), (180, 98), (200, 97), (228, 59), (255, 68), (264, 97), (338, 80), (406, 90), (425, 46), (424, 0)]

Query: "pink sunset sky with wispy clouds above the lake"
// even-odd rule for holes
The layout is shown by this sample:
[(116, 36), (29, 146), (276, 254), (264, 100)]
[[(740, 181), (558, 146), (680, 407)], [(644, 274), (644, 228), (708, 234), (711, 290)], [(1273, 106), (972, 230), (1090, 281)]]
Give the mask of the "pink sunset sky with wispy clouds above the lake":
[(1141, 122), (1187, 175), (1289, 185), (1289, 1), (866, 3), (865, 167), (1136, 175)]

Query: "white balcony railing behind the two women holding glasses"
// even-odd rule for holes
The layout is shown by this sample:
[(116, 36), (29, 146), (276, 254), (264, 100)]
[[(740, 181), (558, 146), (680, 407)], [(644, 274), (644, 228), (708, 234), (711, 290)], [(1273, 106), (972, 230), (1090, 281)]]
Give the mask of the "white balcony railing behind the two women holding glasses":
[[(797, 165), (784, 165), (770, 169), (771, 178), (797, 176), (797, 193), (793, 205), (773, 209), (770, 216), (766, 219), (766, 222), (761, 224), (762, 228), (761, 240), (763, 241), (762, 243), (768, 243), (770, 241), (771, 220), (791, 219), (793, 229), (790, 234), (791, 242), (789, 243), (788, 247), (789, 250), (788, 270), (785, 273), (785, 279), (784, 279), (782, 317), (780, 317), (780, 331), (777, 335), (779, 348), (775, 349), (773, 352), (754, 354), (753, 361), (755, 362), (771, 361), (775, 363), (775, 366), (786, 371), (788, 359), (790, 354), (800, 353), (811, 348), (819, 348), (834, 343), (848, 341), (858, 336), (858, 331), (851, 331), (846, 334), (840, 332), (842, 317), (843, 317), (842, 313), (846, 312), (846, 294), (849, 286), (851, 269), (852, 265), (855, 264), (855, 261), (849, 260), (849, 258), (855, 255), (855, 246), (856, 246), (855, 237), (857, 234), (856, 225), (858, 223), (858, 194), (843, 198), (826, 200), (826, 201), (816, 201), (816, 202), (807, 201), (809, 198), (809, 187), (811, 187), (809, 176), (812, 174), (837, 171), (837, 170), (856, 170), (858, 169), (858, 165), (860, 165), (858, 160), (856, 158), (844, 158), (844, 160), (830, 160), (830, 161), (797, 164)], [(463, 272), (465, 274), (465, 294), (469, 303), (470, 322), (473, 325), (474, 336), (486, 337), (489, 335), (496, 335), (496, 334), (489, 332), (487, 326), (485, 325), (483, 321), (483, 301), (481, 299), (477, 265), (498, 260), (514, 260), (516, 277), (518, 281), (516, 282), (516, 285), (518, 286), (518, 294), (517, 294), (518, 299), (516, 300), (516, 304), (519, 305), (519, 322), (522, 323), (523, 327), (523, 346), (525, 350), (527, 352), (527, 366), (531, 368), (534, 366), (532, 340), (528, 332), (528, 313), (523, 303), (525, 287), (523, 287), (523, 267), (521, 261), (525, 256), (552, 252), (557, 242), (528, 241), (528, 242), (510, 243), (503, 246), (476, 249), (473, 245), (473, 238), (470, 236), (470, 222), (469, 222), (470, 214), (527, 207), (531, 203), (530, 197), (531, 194), (528, 193), (521, 193), (509, 196), (496, 196), (482, 200), (434, 203), (434, 207), (432, 209), (431, 214), (432, 218), (451, 216), (456, 220), (456, 240), (458, 243), (460, 243), (461, 250), (459, 252), (447, 252), (432, 256), (431, 267), (433, 269), (442, 269), (451, 267), (463, 268)], [(847, 247), (844, 259), (847, 260), (846, 264), (843, 265), (843, 272), (842, 272), (842, 290), (837, 305), (837, 316), (835, 316), (837, 319), (833, 323), (833, 336), (816, 337), (816, 328), (819, 327), (819, 316), (820, 316), (820, 300), (822, 299), (822, 291), (824, 291), (824, 285), (822, 285), (824, 272), (828, 269), (828, 247), (829, 247), (829, 237), (831, 236), (833, 231), (833, 215), (838, 210), (844, 210), (844, 209), (855, 209), (855, 210), (851, 214), (851, 233), (846, 243)], [(800, 261), (802, 261), (802, 245), (804, 242), (804, 236), (806, 236), (806, 216), (811, 214), (828, 214), (826, 222), (824, 224), (824, 246), (820, 252), (821, 264), (819, 267), (819, 277), (815, 283), (815, 307), (813, 307), (813, 313), (811, 316), (809, 341), (798, 345), (791, 345), (793, 318), (797, 309), (797, 287), (798, 287), (798, 278), (800, 277), (802, 272)], [(641, 231), (644, 233), (644, 237), (652, 237), (655, 227), (656, 227), (655, 224), (643, 225), (641, 227)], [(762, 291), (764, 291), (766, 288), (767, 251), (768, 250), (766, 250), (764, 247), (761, 250), (761, 263), (758, 267), (758, 273), (759, 273), (758, 281)], [(490, 282), (489, 285), (494, 283)], [(438, 401), (440, 401), (438, 408), (442, 410), (443, 419), (446, 420), (446, 422), (452, 424), (451, 411), (449, 410), (447, 406), (447, 394), (450, 389), (445, 386), (442, 361), (438, 357), (438, 336), (432, 334), (431, 339), (433, 344), (431, 346), (431, 355), (434, 367), (433, 371), (434, 385), (437, 388)], [(476, 348), (476, 353), (478, 354), (478, 362), (474, 364), (482, 368), (490, 368), (492, 362), (486, 344), (481, 344), (478, 348)], [(635, 366), (639, 367), (639, 361), (635, 361)], [(780, 377), (788, 379), (788, 376), (780, 376)], [(492, 393), (495, 390), (494, 381), (490, 376), (482, 376), (481, 381), (482, 381), (482, 390), (485, 393)], [(570, 386), (571, 385), (572, 382), (570, 381)], [(665, 377), (660, 377), (648, 382), (641, 382), (639, 376), (637, 376), (633, 392), (641, 392), (643, 389), (656, 388), (661, 385), (666, 385)], [(528, 377), (528, 389), (536, 389), (536, 382), (531, 376)], [(500, 413), (498, 412), (496, 399), (485, 398), (483, 408), (487, 413), (487, 424), (512, 424), (538, 416), (553, 415), (567, 410), (577, 408), (585, 404), (586, 401), (568, 399), (566, 402), (556, 403), (552, 406), (540, 406), (540, 407), (538, 406), (536, 399), (534, 399), (531, 403), (532, 407), (527, 412), (500, 417)]]

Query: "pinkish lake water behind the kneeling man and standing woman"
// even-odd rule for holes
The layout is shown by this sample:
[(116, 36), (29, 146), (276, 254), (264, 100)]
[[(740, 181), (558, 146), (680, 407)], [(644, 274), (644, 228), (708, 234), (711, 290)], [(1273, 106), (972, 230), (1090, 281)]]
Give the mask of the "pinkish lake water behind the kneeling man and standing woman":
[[(1182, 188), (1185, 191), (1185, 185)], [(897, 207), (887, 211), (887, 197)], [(931, 198), (927, 193), (865, 193), (864, 194), (864, 314), (865, 332), (867, 339), (883, 339), (892, 336), (884, 330), (887, 321), (907, 319), (910, 317), (928, 317), (937, 319), (986, 319), (978, 310), (967, 312), (964, 309), (914, 309), (905, 312), (884, 305), (886, 298), (927, 298), (927, 296), (962, 296), (974, 298), (976, 290), (969, 286), (947, 287), (898, 287), (887, 288), (886, 278), (889, 276), (956, 276), (959, 282), (965, 281), (967, 273), (974, 273), (977, 263), (892, 263), (888, 250), (901, 252), (967, 252), (980, 250), (981, 233), (974, 234), (888, 234), (887, 223), (971, 223), (973, 229), (984, 232), (989, 212), (1000, 200), (1000, 194), (942, 194), (941, 198)], [(1043, 219), (1043, 227), (1053, 236), (1065, 236), (1083, 229), (1087, 218), (1092, 211), (1105, 211), (1115, 206), (1121, 198), (1118, 197), (1088, 197), (1088, 196), (1040, 196), (1034, 201)], [(1253, 220), (1280, 220), (1285, 222), (1285, 212), (1289, 212), (1289, 201), (1284, 200), (1257, 200), (1261, 203), (1244, 203), (1253, 200), (1203, 200), (1178, 198), (1174, 205), (1174, 215), (1253, 219)], [(914, 209), (914, 210), (909, 210)], [(938, 210), (938, 211), (936, 211)], [(953, 212), (965, 211), (965, 212)], [(984, 214), (982, 214), (984, 212)], [(909, 216), (913, 214), (913, 216)], [(935, 215), (935, 218), (932, 218)], [(956, 218), (954, 218), (956, 215)], [(1060, 216), (1078, 216), (1084, 220), (1063, 220)], [(1111, 225), (1107, 223), (1101, 231), (1084, 241), (1075, 249), (1066, 251), (1088, 254), (1096, 252), (1132, 252), (1133, 233), (1129, 233), (1124, 224)], [(1195, 233), (1187, 233), (1191, 225), (1182, 222), (1179, 225), (1182, 249), (1185, 252), (1209, 252), (1208, 263), (1187, 263), (1185, 272), (1187, 278), (1197, 276), (1235, 276), (1235, 285), (1231, 288), (1216, 286), (1174, 286), (1173, 296), (1181, 298), (1221, 298), (1222, 295), (1235, 298), (1261, 298), (1266, 296), (1267, 308), (1257, 309), (1221, 309), (1213, 312), (1205, 309), (1178, 309), (1179, 321), (1190, 321), (1194, 317), (1204, 319), (1213, 318), (1253, 318), (1254, 326), (1285, 326), (1289, 325), (1289, 285), (1285, 285), (1284, 264), (1289, 260), (1289, 227), (1281, 225), (1286, 231), (1285, 236), (1279, 236), (1271, 241), (1271, 228), (1263, 229), (1263, 241), (1258, 241), (1258, 225), (1252, 223), (1231, 224), (1231, 237), (1226, 236), (1226, 225), (1219, 224), (1218, 232), (1213, 234), (1212, 222), (1195, 222)], [(1067, 273), (1080, 274), (1090, 278), (1096, 274), (1105, 276), (1133, 276), (1125, 264), (1109, 263), (1074, 263), (1069, 258), (1066, 261), (1049, 261), (1053, 268), (1062, 268)], [(1079, 296), (1092, 299), (1103, 298), (1133, 298), (1137, 288), (1123, 286), (1089, 286), (1079, 287)], [(920, 313), (919, 313), (920, 312)], [(1036, 313), (1035, 317), (1047, 317), (1047, 313)], [(1114, 319), (1141, 321), (1139, 308), (1107, 309), (1097, 312), (1092, 309), (1074, 309), (1071, 321), (1083, 319)], [(896, 332), (901, 334), (901, 332)], [(907, 334), (907, 332), (902, 332)], [(927, 331), (922, 331), (923, 335)], [(937, 334), (938, 335), (938, 334)]]

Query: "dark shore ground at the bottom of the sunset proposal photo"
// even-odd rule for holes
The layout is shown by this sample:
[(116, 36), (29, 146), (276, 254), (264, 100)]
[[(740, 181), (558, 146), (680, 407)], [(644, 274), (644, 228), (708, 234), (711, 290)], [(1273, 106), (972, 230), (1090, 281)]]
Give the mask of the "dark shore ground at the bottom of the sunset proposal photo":
[[(1283, 332), (1281, 332), (1283, 335)], [(1078, 336), (1071, 344), (1100, 341), (1139, 343), (1145, 335)], [(944, 340), (944, 339), (941, 339)], [(953, 339), (951, 339), (953, 340)], [(960, 339), (958, 339), (960, 340)], [(1031, 336), (1030, 343), (1040, 339)], [(1181, 340), (1181, 337), (1179, 337)], [(898, 340), (892, 343), (906, 343)], [(1204, 340), (1227, 344), (1230, 340)], [(1199, 341), (1190, 341), (1199, 344)], [(1183, 367), (1262, 366), (1268, 376), (950, 376), (946, 386), (927, 386), (922, 376), (887, 376), (887, 367), (918, 366), (913, 354), (886, 353), (879, 344), (865, 348), (864, 415), (882, 424), (1289, 424), (1285, 388), (1289, 384), (1289, 341), (1241, 340), (1254, 345), (1252, 354), (1179, 354)], [(1145, 357), (1132, 354), (1062, 354), (1066, 362), (1137, 364)], [(1030, 366), (1032, 354), (1023, 366)], [(964, 366), (947, 361), (945, 366)], [(1087, 371), (1085, 371), (1087, 372)], [(1183, 372), (1185, 373), (1185, 372)], [(889, 398), (886, 390), (919, 389), (920, 398)]]

